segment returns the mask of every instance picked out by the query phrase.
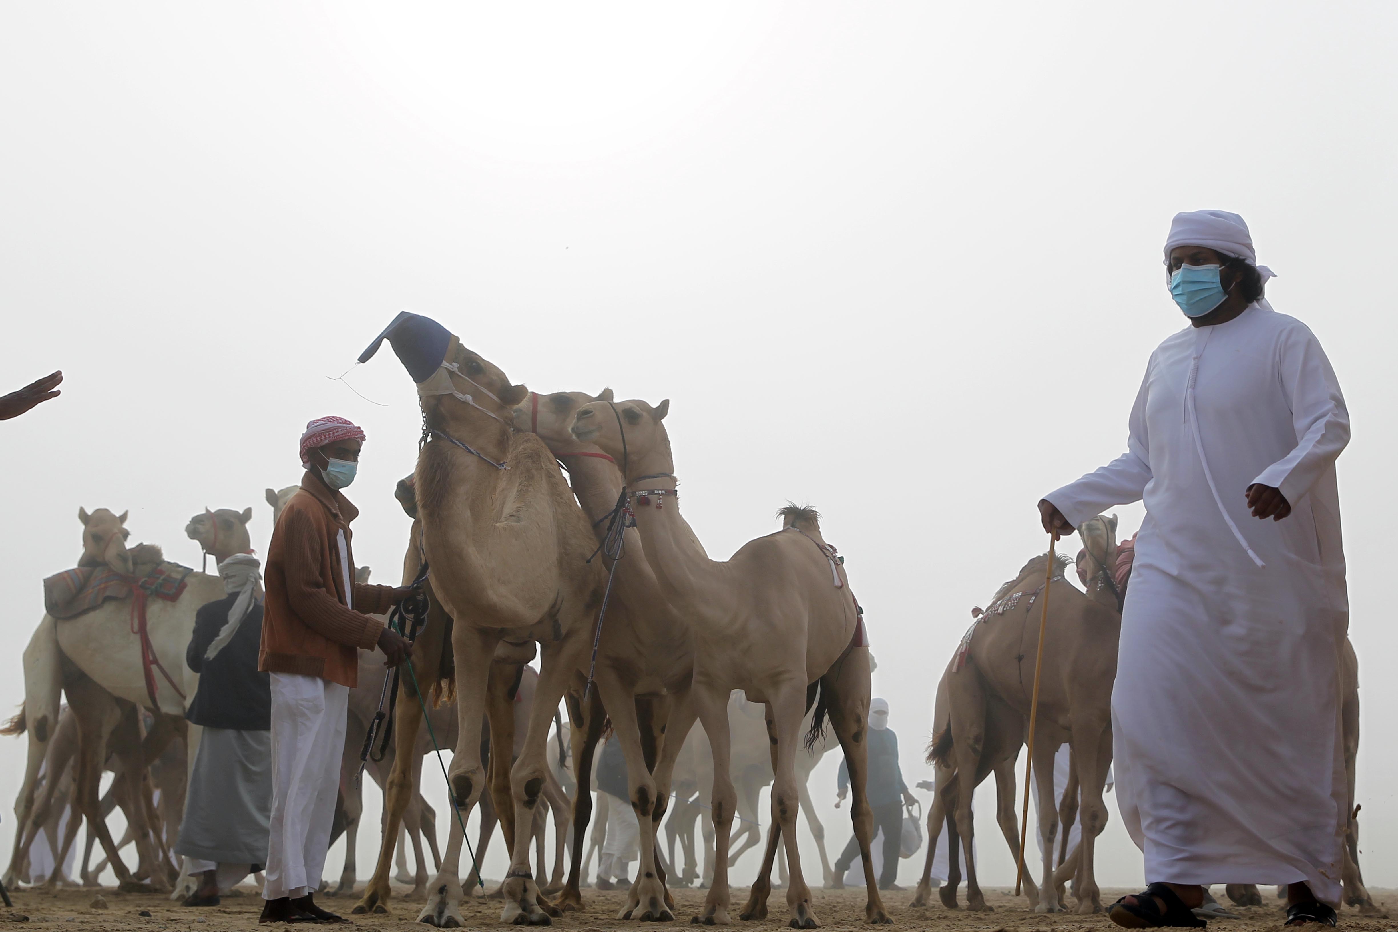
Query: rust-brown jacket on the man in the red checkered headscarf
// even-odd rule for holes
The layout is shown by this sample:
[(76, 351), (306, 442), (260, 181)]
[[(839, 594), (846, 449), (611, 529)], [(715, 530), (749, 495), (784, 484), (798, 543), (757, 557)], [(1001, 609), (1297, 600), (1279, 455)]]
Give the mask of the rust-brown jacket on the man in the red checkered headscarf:
[[(359, 510), (315, 472), (287, 503), (267, 552), (267, 602), (257, 669), (319, 676), (351, 689), (358, 685), (359, 651), (379, 643), (391, 585), (354, 583), (350, 523)], [(344, 532), (345, 560), (340, 558)], [(348, 565), (352, 605), (345, 599)]]

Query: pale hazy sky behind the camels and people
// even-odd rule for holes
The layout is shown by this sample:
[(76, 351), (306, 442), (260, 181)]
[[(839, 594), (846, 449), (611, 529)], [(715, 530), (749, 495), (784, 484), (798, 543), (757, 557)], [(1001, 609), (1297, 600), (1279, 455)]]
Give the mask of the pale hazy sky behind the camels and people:
[[(411, 309), (531, 388), (671, 398), (684, 513), (712, 555), (772, 531), (787, 499), (819, 507), (868, 612), (903, 773), (930, 778), (932, 687), (969, 609), (1043, 549), (1035, 502), (1124, 447), (1146, 356), (1184, 323), (1160, 265), (1170, 217), (1213, 207), (1247, 218), (1279, 275), (1268, 298), (1311, 326), (1349, 401), (1363, 866), (1395, 886), (1391, 496), (1373, 506), (1398, 453), (1381, 272), (1395, 18), (1383, 3), (0, 6), (0, 376), (67, 373), (60, 400), (0, 425), (0, 704), (22, 697), (39, 583), (74, 563), (80, 506), (130, 509), (133, 539), (192, 565), (192, 514), (253, 506), (264, 551), (263, 489), (298, 481), (313, 416), (368, 430), (356, 556), (396, 576), (412, 383), (391, 355), (348, 374), (363, 397), (330, 377)], [(1134, 531), (1139, 507), (1118, 513)], [(826, 803), (836, 764), (812, 777)], [(1012, 883), (993, 810), (987, 794), (981, 876)], [(1139, 884), (1110, 813), (1099, 878)], [(849, 822), (826, 815), (833, 858)]]

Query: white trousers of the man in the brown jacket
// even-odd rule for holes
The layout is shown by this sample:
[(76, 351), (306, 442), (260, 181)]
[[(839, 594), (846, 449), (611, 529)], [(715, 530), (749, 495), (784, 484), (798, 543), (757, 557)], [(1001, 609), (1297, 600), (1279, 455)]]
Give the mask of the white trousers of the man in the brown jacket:
[(350, 689), (319, 676), (271, 673), (271, 829), (263, 898), (320, 887), (340, 788)]

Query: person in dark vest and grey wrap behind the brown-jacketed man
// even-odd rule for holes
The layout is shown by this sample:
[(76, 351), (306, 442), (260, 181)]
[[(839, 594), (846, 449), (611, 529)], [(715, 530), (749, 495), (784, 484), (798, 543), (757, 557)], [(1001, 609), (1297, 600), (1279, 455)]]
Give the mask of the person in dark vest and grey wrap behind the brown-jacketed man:
[(175, 852), (200, 886), (185, 905), (218, 905), (218, 894), (267, 862), (271, 817), (271, 692), (257, 672), (261, 576), (257, 558), (218, 565), (226, 598), (200, 606), (185, 662), (199, 673), (185, 717), (203, 728)]

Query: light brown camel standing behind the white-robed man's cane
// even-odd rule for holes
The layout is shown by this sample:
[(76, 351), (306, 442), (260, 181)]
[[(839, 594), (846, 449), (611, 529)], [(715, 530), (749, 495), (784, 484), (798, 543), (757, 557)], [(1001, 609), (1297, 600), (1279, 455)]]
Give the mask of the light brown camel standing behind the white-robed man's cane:
[[(1116, 518), (1097, 516), (1085, 521), (1081, 537), (1089, 552), (1116, 552)], [(1103, 594), (1086, 595), (1062, 580), (1067, 558), (1058, 558), (1048, 601), (1048, 636), (1044, 639), (1043, 680), (1039, 694), (1039, 734), (1035, 738), (1035, 791), (1039, 799), (1039, 831), (1043, 840), (1043, 875), (1039, 884), (1040, 912), (1057, 912), (1058, 884), (1054, 878), (1054, 838), (1058, 806), (1054, 799), (1053, 759), (1068, 742), (1082, 789), (1082, 843), (1065, 873), (1078, 876), (1078, 912), (1100, 910), (1100, 891), (1093, 875), (1092, 851), (1106, 826), (1102, 801), (1107, 766), (1111, 763), (1111, 683), (1116, 678), (1117, 641), (1121, 616)], [(984, 910), (986, 901), (970, 859), (974, 836), (972, 792), (1004, 762), (1018, 756), (1029, 718), (1029, 690), (1039, 650), (1039, 599), (1043, 598), (1044, 556), (1035, 558), (1005, 583), (962, 641), (960, 668), (946, 675), (948, 725), (934, 738), (932, 757), (956, 774), (955, 819), (966, 857), (967, 908)], [(1092, 587), (1089, 585), (1089, 590)], [(1106, 594), (1110, 595), (1110, 594)], [(1099, 601), (1100, 599), (1100, 601)], [(1114, 597), (1113, 597), (1114, 602)], [(952, 667), (956, 667), (953, 660)], [(939, 778), (945, 770), (939, 771)], [(1000, 777), (1004, 780), (1004, 777)], [(1012, 776), (1009, 776), (1012, 780)], [(1012, 784), (1011, 784), (1012, 785)], [(941, 795), (941, 791), (939, 794)], [(1012, 791), (1001, 794), (1014, 805)], [(942, 802), (948, 802), (944, 796)], [(935, 806), (934, 806), (935, 810)], [(1011, 812), (1012, 815), (1012, 812)], [(932, 813), (930, 813), (930, 820)], [(1007, 840), (1015, 826), (1001, 819)], [(935, 837), (932, 838), (935, 841)], [(1018, 854), (1018, 838), (1012, 841)], [(1026, 884), (1026, 890), (1033, 890)], [(945, 898), (946, 894), (944, 894)], [(951, 890), (955, 898), (955, 887)], [(1029, 893), (1033, 898), (1033, 893)]]

